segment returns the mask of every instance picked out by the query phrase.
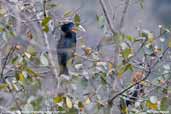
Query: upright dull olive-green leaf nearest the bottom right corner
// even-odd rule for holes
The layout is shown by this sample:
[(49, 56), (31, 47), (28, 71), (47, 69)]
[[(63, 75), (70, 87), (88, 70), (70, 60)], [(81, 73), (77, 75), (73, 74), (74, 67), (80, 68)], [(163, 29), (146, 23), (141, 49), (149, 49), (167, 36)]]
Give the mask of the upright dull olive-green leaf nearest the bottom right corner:
[(160, 110), (167, 111), (169, 107), (168, 97), (163, 97), (160, 103)]

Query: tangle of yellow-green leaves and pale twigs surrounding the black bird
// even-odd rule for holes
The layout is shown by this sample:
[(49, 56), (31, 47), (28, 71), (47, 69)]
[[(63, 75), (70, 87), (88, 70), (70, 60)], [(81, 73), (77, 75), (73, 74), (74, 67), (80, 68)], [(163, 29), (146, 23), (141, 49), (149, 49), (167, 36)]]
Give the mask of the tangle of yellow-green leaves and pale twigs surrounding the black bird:
[[(107, 109), (120, 109), (115, 105), (117, 100), (111, 100), (115, 95), (118, 95), (118, 100), (121, 98), (120, 112), (123, 114), (169, 109), (170, 28), (160, 26), (159, 35), (143, 29), (137, 31), (138, 36), (122, 32), (114, 35), (109, 32), (105, 15), (97, 15), (98, 28), (104, 35), (98, 49), (78, 40), (74, 62), (68, 62), (72, 71), (70, 76), (62, 75), (56, 79), (49, 57), (53, 48), (47, 46), (44, 37), (47, 35), (53, 42), (51, 36), (56, 35), (60, 22), (68, 21), (68, 18), (73, 19), (76, 27), (82, 27), (81, 14), (71, 10), (56, 18), (53, 11), (61, 8), (57, 2), (47, 1), (47, 6), (43, 7), (41, 1), (27, 4), (11, 1), (19, 11), (5, 5), (0, 7), (0, 91), (12, 95), (11, 110), (106, 114)], [(5, 3), (11, 6), (8, 1)], [(140, 0), (140, 5), (144, 7), (143, 0)], [(19, 12), (29, 18), (13, 15)], [(48, 16), (43, 15), (46, 12)], [(104, 47), (109, 45), (118, 46), (118, 53), (111, 52), (112, 57), (105, 54), (108, 49)], [(115, 55), (118, 55), (117, 62), (113, 60)], [(56, 53), (53, 56), (55, 58)], [(136, 71), (144, 72), (147, 78), (140, 82), (130, 81), (131, 74)], [(127, 87), (137, 82), (144, 86), (145, 93), (138, 96), (130, 108), (124, 103), (129, 90), (132, 90)]]

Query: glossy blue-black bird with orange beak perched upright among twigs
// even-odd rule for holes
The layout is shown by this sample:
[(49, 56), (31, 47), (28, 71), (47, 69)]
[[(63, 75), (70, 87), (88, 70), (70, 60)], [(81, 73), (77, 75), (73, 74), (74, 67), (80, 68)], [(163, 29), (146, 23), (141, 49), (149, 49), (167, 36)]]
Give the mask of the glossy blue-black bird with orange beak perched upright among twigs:
[(76, 51), (76, 26), (73, 22), (64, 23), (61, 26), (61, 36), (57, 45), (58, 64), (60, 73), (69, 75), (67, 62), (74, 57)]

